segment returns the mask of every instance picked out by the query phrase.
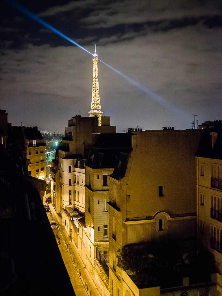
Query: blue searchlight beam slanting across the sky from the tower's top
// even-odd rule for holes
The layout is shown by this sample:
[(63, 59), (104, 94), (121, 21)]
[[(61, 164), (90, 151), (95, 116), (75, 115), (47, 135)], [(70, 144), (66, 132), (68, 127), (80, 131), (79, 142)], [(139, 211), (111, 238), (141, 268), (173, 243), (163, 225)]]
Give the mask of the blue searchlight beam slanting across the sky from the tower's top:
[[(78, 43), (76, 43), (75, 41), (73, 41), (72, 39), (70, 39), (69, 37), (67, 37), (66, 35), (64, 35), (63, 33), (61, 33), (59, 30), (55, 29), (54, 27), (52, 27), (51, 25), (49, 25), (47, 22), (45, 22), (44, 20), (42, 20), (40, 17), (38, 17), (37, 15), (34, 15), (32, 12), (30, 12), (28, 9), (26, 9), (25, 7), (23, 7), (21, 4), (19, 4), (18, 2), (14, 1), (14, 0), (5, 0), (5, 2), (9, 5), (11, 5), (12, 7), (14, 7), (15, 9), (19, 10), (20, 12), (24, 13), (25, 15), (27, 15), (28, 17), (30, 17), (31, 19), (35, 20), (36, 22), (40, 23), (41, 25), (45, 26), (46, 28), (48, 28), (49, 30), (52, 30), (54, 33), (58, 34), (59, 36), (61, 36), (62, 38), (65, 38), (66, 40), (70, 41), (71, 43), (73, 43), (74, 45), (78, 46), (79, 48), (83, 49), (84, 51), (88, 52), (89, 54), (93, 55), (91, 52), (89, 52), (87, 49), (85, 49), (84, 47), (82, 47), (81, 45), (79, 45)], [(107, 63), (103, 62), (101, 59), (99, 59), (100, 62), (102, 62), (104, 65), (106, 65), (107, 67), (109, 67), (110, 69), (112, 69), (115, 73), (119, 74), (121, 77), (123, 77), (124, 79), (126, 79), (128, 82), (132, 83), (134, 86), (136, 86), (140, 91), (144, 92), (145, 94), (147, 94), (149, 97), (151, 97), (152, 99), (154, 99), (156, 102), (162, 104), (163, 106), (167, 107), (169, 110), (171, 110), (172, 112), (177, 112), (182, 116), (186, 116), (184, 111), (181, 110), (180, 108), (176, 107), (175, 105), (171, 104), (170, 102), (167, 102), (162, 96), (154, 93), (153, 91), (151, 91), (150, 89), (148, 89), (146, 86), (142, 85), (139, 82), (136, 82), (135, 80), (133, 80), (132, 78), (128, 77), (127, 75), (123, 74), (122, 72), (116, 70), (115, 68), (113, 68), (112, 66), (108, 65)]]

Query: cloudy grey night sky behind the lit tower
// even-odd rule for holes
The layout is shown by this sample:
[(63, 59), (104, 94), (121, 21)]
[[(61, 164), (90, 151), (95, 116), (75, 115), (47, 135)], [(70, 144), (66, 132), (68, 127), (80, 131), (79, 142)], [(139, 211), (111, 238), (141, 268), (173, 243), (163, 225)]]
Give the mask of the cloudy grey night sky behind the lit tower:
[[(9, 1), (8, 1), (9, 2)], [(102, 111), (124, 128), (190, 128), (222, 119), (221, 0), (20, 0), (126, 75), (99, 66)], [(14, 125), (64, 132), (89, 116), (91, 55), (0, 4), (0, 109)]]

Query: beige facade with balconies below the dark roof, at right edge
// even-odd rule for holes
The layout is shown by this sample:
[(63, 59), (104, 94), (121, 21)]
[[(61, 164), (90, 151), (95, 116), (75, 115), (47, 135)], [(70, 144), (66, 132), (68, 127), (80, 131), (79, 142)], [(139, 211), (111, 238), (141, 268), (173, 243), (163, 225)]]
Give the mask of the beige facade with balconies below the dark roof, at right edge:
[[(205, 157), (196, 160), (198, 238), (214, 255), (222, 287), (222, 160)], [(221, 180), (218, 181), (221, 187), (214, 180)]]

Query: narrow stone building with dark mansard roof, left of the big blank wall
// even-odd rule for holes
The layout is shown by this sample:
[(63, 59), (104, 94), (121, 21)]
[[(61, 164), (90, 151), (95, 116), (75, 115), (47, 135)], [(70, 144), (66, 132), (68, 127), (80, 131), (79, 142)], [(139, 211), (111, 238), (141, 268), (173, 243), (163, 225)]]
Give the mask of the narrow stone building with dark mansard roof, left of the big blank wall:
[[(86, 163), (86, 214), (85, 221), (79, 220), (78, 235), (86, 249), (86, 267), (101, 295), (109, 295), (108, 176), (118, 164), (120, 153), (130, 150), (130, 134), (101, 134), (97, 136)], [(85, 236), (83, 242), (82, 236)]]

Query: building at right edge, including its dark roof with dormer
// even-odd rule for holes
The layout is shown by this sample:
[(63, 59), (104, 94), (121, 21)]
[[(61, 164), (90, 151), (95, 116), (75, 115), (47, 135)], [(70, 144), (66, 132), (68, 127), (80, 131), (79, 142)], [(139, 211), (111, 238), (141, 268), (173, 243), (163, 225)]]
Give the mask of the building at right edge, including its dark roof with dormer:
[(222, 291), (222, 128), (208, 128), (196, 155), (198, 240), (215, 258)]

